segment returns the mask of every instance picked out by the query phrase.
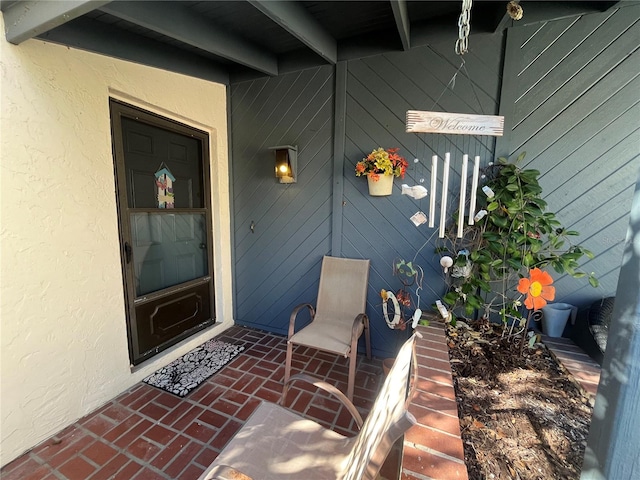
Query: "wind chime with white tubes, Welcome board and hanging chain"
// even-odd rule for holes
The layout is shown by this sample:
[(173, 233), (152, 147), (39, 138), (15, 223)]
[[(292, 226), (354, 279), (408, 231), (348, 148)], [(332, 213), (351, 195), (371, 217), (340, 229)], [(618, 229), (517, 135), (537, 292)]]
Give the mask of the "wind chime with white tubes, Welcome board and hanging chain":
[[(467, 52), (469, 45), (469, 31), (470, 31), (470, 20), (471, 20), (471, 6), (472, 0), (464, 0), (462, 3), (462, 12), (458, 19), (458, 40), (455, 45), (455, 52), (461, 58)], [(455, 85), (455, 78), (460, 72), (460, 70), (464, 69), (469, 81), (471, 82), (471, 78), (466, 72), (466, 67), (464, 66), (464, 59), (462, 59), (462, 63), (460, 68), (456, 71), (453, 78), (447, 84), (442, 94), (450, 87), (450, 85)], [(471, 86), (473, 88), (473, 82), (471, 82)], [(475, 93), (475, 90), (474, 90)], [(436, 100), (437, 102), (442, 97), (442, 94)], [(476, 95), (477, 98), (477, 95)], [(480, 103), (478, 99), (478, 103)], [(435, 105), (435, 104), (434, 104)], [(409, 110), (407, 111), (407, 126), (406, 131), (409, 133), (432, 133), (438, 135), (472, 135), (472, 136), (489, 136), (489, 137), (498, 137), (502, 136), (504, 131), (504, 117), (496, 116), (496, 115), (475, 115), (475, 114), (464, 114), (464, 113), (445, 113), (445, 112), (433, 112), (433, 111), (419, 111), (419, 110)], [(462, 142), (464, 145), (464, 142)], [(463, 153), (462, 155), (462, 164), (460, 170), (460, 196), (459, 196), (459, 204), (458, 204), (458, 225), (456, 236), (458, 238), (462, 238), (464, 234), (464, 224), (465, 224), (465, 209), (467, 205), (467, 186), (469, 183), (469, 178), (471, 178), (471, 190), (470, 190), (470, 199), (469, 199), (469, 211), (468, 211), (468, 225), (473, 225), (474, 222), (479, 221), (482, 217), (486, 215), (486, 212), (481, 210), (476, 213), (476, 191), (478, 189), (478, 181), (480, 174), (480, 155), (473, 156), (473, 160), (470, 158), (469, 153)], [(416, 162), (418, 160), (416, 159)], [(469, 174), (470, 163), (473, 163), (471, 166), (471, 174)], [(436, 219), (436, 199), (437, 199), (437, 178), (438, 178), (438, 170), (439, 165), (442, 163), (442, 192), (440, 195), (440, 221), (439, 221), (439, 237), (444, 238), (445, 236), (445, 226), (447, 219), (447, 208), (448, 208), (448, 199), (449, 199), (449, 175), (452, 170), (452, 154), (450, 151), (447, 151), (444, 154), (444, 158), (442, 162), (438, 157), (438, 154), (435, 153), (431, 157), (431, 196), (429, 201), (429, 215), (428, 222), (429, 228), (435, 227), (435, 219)], [(421, 180), (424, 181), (424, 180)], [(414, 198), (422, 198), (414, 195), (412, 193), (415, 189), (421, 188), (418, 190), (422, 196), (426, 195), (426, 189), (424, 187), (409, 187), (408, 185), (402, 186), (402, 193), (413, 196)], [(424, 191), (424, 192), (423, 192)], [(489, 192), (485, 192), (489, 193)], [(492, 193), (492, 192), (491, 192)], [(488, 195), (489, 196), (489, 195)], [(414, 219), (414, 217), (417, 217)], [(426, 216), (422, 212), (416, 213), (411, 220), (418, 226), (421, 223), (426, 223)]]

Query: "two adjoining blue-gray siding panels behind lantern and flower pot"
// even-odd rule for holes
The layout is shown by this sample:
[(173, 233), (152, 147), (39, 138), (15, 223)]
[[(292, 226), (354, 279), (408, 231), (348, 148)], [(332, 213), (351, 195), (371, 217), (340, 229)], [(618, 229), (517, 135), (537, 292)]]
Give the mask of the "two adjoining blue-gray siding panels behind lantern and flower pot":
[[(373, 352), (395, 350), (403, 335), (386, 326), (380, 298), (382, 288), (402, 286), (393, 276), (394, 260), (413, 260), (424, 270), (423, 310), (446, 290), (434, 254), (436, 229), (415, 227), (409, 219), (418, 210), (428, 212), (429, 197), (403, 196), (400, 185), (425, 179), (430, 188), (431, 155), (450, 151), (451, 192), (457, 192), (462, 153), (481, 155), (483, 164), (494, 153), (493, 138), (406, 133), (406, 111), (497, 114), (502, 41), (502, 35), (472, 36), (465, 69), (454, 84), (449, 82), (461, 59), (447, 42), (346, 62), (339, 67), (346, 68), (346, 81), (344, 75), (335, 81), (333, 67), (322, 67), (231, 85), (237, 323), (284, 334), (292, 308), (315, 303), (322, 255), (369, 258)], [(346, 104), (342, 128), (334, 118), (337, 94)], [(343, 131), (344, 138), (334, 143), (335, 132)], [(281, 144), (298, 145), (295, 184), (274, 178), (268, 147)], [(344, 158), (334, 159), (334, 145), (342, 144)], [(355, 176), (355, 163), (377, 147), (398, 147), (410, 163), (390, 197), (370, 197), (366, 178)], [(341, 178), (332, 178), (334, 160), (342, 164)], [(332, 197), (332, 180), (341, 182), (341, 201)], [(453, 193), (449, 205), (451, 215), (457, 205)], [(341, 227), (334, 242), (338, 252), (331, 249), (334, 222)]]

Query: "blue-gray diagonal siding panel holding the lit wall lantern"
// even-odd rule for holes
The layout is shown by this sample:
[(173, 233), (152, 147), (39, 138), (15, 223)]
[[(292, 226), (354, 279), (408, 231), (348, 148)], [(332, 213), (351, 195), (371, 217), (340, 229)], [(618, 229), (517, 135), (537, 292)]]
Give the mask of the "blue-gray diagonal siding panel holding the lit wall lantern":
[[(240, 324), (286, 333), (293, 306), (315, 298), (331, 244), (333, 96), (332, 67), (231, 86)], [(268, 147), (283, 144), (298, 146), (295, 184), (274, 177)]]

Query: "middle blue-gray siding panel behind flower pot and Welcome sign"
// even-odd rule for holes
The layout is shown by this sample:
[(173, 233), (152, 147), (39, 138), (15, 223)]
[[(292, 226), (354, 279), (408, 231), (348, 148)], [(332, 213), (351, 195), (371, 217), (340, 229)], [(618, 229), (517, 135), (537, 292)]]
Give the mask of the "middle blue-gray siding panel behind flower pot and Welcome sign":
[[(478, 48), (473, 47), (476, 38)], [(428, 212), (429, 197), (416, 201), (400, 195), (400, 185), (415, 185), (424, 179), (429, 188), (431, 155), (437, 152), (443, 156), (445, 151), (450, 151), (454, 169), (450, 186), (452, 192), (458, 191), (462, 153), (477, 152), (485, 165), (493, 160), (494, 153), (493, 139), (406, 133), (406, 111), (495, 114), (501, 39), (499, 35), (472, 37), (469, 61), (465, 62), (467, 71), (458, 73), (453, 89), (447, 89), (447, 84), (458, 70), (460, 59), (449, 44), (348, 63), (343, 255), (371, 259), (367, 313), (371, 319), (374, 352), (378, 355), (388, 355), (403, 338), (403, 333), (387, 327), (381, 310), (380, 290), (396, 291), (402, 286), (393, 276), (395, 259), (413, 260), (424, 270), (420, 298), (423, 310), (428, 311), (447, 288), (439, 256), (434, 254), (436, 229), (426, 225), (415, 227), (409, 219), (418, 210)], [(405, 180), (395, 180), (394, 194), (390, 197), (369, 196), (366, 179), (354, 175), (355, 163), (378, 146), (399, 147), (410, 162)], [(418, 162), (414, 163), (416, 158)], [(449, 202), (451, 215), (457, 210), (454, 195)], [(415, 286), (412, 289), (414, 292)], [(415, 294), (413, 297), (415, 300)]]

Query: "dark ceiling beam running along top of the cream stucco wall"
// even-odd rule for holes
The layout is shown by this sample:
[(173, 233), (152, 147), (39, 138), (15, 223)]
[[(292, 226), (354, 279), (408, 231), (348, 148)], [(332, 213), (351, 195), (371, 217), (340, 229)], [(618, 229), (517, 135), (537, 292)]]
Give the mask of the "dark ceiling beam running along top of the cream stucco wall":
[(78, 18), (40, 35), (39, 38), (141, 65), (229, 84), (225, 65), (90, 18)]

